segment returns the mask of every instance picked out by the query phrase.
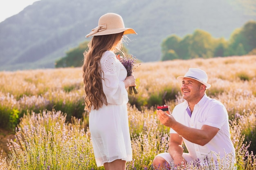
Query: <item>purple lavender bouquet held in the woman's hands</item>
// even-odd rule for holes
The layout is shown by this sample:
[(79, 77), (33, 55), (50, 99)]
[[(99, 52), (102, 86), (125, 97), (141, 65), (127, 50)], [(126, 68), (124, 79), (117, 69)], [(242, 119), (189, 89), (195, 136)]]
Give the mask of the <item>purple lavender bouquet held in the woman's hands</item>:
[[(127, 76), (132, 75), (133, 72), (133, 67), (135, 66), (136, 62), (137, 62), (137, 58), (133, 57), (132, 55), (129, 57), (121, 57), (120, 54), (116, 55), (117, 59), (124, 65), (124, 67), (126, 68), (127, 71)], [(132, 95), (132, 94), (137, 95), (139, 93), (139, 91), (137, 90), (137, 88), (135, 86), (130, 86), (128, 89), (128, 94)]]

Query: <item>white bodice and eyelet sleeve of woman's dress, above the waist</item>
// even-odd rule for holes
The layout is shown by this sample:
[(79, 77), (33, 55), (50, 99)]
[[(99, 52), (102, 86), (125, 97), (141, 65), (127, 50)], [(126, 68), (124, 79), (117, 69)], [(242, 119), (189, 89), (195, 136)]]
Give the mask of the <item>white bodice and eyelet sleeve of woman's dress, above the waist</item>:
[(128, 93), (124, 85), (127, 71), (117, 60), (115, 53), (106, 51), (101, 58), (103, 77), (103, 92), (108, 104), (123, 104), (128, 102)]

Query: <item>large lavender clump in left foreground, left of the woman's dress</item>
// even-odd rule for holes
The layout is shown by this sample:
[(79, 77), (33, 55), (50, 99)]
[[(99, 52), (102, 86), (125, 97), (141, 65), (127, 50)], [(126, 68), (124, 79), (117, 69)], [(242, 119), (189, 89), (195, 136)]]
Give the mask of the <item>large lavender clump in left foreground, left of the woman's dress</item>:
[(65, 124), (60, 111), (25, 115), (16, 130), (7, 169), (79, 170), (95, 166), (90, 132), (79, 119)]

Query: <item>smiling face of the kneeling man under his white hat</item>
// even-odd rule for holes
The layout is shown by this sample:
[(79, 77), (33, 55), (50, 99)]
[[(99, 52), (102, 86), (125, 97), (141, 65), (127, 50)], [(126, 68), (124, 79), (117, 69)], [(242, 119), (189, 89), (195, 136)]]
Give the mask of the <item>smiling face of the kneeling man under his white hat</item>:
[(201, 83), (195, 79), (184, 77), (180, 87), (183, 99), (188, 102), (198, 102), (201, 99), (200, 87)]

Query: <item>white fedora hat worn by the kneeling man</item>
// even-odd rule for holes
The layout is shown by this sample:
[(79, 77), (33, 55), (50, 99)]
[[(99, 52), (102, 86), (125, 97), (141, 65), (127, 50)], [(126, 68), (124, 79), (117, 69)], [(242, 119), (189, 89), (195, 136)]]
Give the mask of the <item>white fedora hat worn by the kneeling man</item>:
[(189, 68), (189, 71), (186, 72), (184, 76), (177, 77), (177, 80), (182, 82), (184, 77), (195, 79), (196, 81), (204, 84), (206, 86), (206, 89), (211, 87), (211, 84), (207, 83), (207, 74), (203, 70), (200, 70), (198, 68)]

